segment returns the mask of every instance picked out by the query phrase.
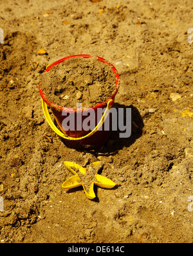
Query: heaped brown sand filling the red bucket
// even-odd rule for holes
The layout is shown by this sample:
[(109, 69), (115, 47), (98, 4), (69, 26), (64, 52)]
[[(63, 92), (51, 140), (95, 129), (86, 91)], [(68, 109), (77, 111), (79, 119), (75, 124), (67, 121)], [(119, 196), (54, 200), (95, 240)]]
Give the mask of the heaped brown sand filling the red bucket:
[(62, 107), (93, 107), (113, 95), (115, 74), (97, 58), (70, 58), (51, 67), (41, 77), (42, 90), (49, 101)]

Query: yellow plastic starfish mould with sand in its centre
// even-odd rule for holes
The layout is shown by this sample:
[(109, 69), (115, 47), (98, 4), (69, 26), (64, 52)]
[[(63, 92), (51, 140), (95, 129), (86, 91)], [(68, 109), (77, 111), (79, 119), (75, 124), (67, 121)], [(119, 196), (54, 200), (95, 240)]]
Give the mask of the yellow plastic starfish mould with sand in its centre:
[[(62, 187), (64, 189), (71, 189), (73, 187), (82, 186), (84, 188), (84, 192), (86, 193), (87, 198), (93, 199), (96, 197), (94, 192), (94, 184), (98, 187), (111, 189), (115, 187), (115, 182), (106, 178), (105, 176), (98, 175), (95, 169), (97, 165), (101, 162), (94, 162), (89, 165), (88, 168), (84, 168), (78, 164), (73, 162), (65, 161), (64, 165), (73, 173), (74, 175), (68, 178), (63, 184)], [(89, 185), (89, 186), (88, 186)]]

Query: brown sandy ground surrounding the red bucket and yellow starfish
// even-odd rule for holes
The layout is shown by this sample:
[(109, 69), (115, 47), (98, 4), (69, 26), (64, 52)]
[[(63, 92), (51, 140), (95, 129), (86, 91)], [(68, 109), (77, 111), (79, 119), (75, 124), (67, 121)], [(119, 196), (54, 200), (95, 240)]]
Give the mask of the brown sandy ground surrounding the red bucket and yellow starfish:
[[(1, 242), (193, 242), (192, 17), (186, 0), (1, 1)], [(51, 130), (39, 79), (73, 54), (115, 65), (116, 107), (131, 107), (139, 127), (129, 138), (114, 132), (102, 149), (78, 151)], [(116, 187), (95, 187), (94, 200), (62, 189), (64, 161), (102, 155)]]

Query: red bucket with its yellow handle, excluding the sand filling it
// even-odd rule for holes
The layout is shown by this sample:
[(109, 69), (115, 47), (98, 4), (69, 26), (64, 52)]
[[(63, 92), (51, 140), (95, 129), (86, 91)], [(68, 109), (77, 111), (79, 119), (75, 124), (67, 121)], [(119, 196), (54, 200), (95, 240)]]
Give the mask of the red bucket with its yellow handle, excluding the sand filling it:
[[(70, 58), (96, 58), (91, 55), (74, 55), (74, 56), (68, 56), (63, 59), (59, 59), (59, 61), (56, 61), (55, 63), (49, 65), (44, 72), (49, 72), (51, 67), (58, 65), (59, 63), (62, 63), (63, 61), (66, 61), (66, 59)], [(115, 96), (116, 93), (118, 92), (119, 86), (120, 86), (120, 78), (118, 75), (118, 71), (115, 69), (115, 67), (109, 63), (109, 61), (106, 61), (106, 59), (97, 57), (98, 61), (101, 61), (105, 63), (106, 65), (109, 65), (109, 67), (112, 68), (113, 74), (115, 74), (115, 91), (113, 91), (113, 95), (109, 97), (107, 100), (105, 100), (102, 103), (98, 103), (95, 106), (91, 107), (95, 111), (95, 115), (93, 118), (95, 118), (95, 123), (97, 123), (97, 111), (99, 108), (104, 110), (104, 114), (102, 115), (102, 118), (100, 121), (97, 123), (95, 129), (92, 131), (85, 131), (82, 127), (82, 124), (80, 125), (81, 127), (78, 127), (78, 129), (75, 130), (69, 130), (68, 127), (64, 127), (63, 121), (65, 118), (68, 117), (69, 113), (74, 113), (75, 114), (75, 127), (77, 127), (77, 115), (82, 114), (82, 123), (84, 120), (87, 118), (87, 112), (89, 112), (89, 109), (71, 109), (62, 107), (60, 105), (57, 105), (53, 102), (51, 102), (44, 91), (42, 90), (42, 85), (41, 81), (39, 82), (39, 92), (41, 94), (41, 100), (42, 100), (42, 109), (44, 111), (44, 116), (46, 117), (46, 120), (48, 121), (50, 127), (57, 133), (59, 136), (64, 138), (66, 144), (69, 145), (69, 147), (86, 147), (86, 146), (91, 146), (93, 148), (100, 148), (102, 145), (104, 145), (107, 140), (109, 139), (109, 136), (111, 135), (111, 115), (109, 116), (109, 130), (104, 131), (104, 122), (109, 114), (109, 111), (111, 107), (113, 107), (114, 101), (115, 101)], [(53, 116), (59, 125), (59, 129), (55, 126), (53, 121), (51, 120), (50, 114), (48, 112), (48, 106), (50, 107), (51, 111), (53, 112)], [(64, 115), (64, 112), (62, 114), (62, 111), (66, 112)], [(100, 131), (98, 131), (100, 129)]]

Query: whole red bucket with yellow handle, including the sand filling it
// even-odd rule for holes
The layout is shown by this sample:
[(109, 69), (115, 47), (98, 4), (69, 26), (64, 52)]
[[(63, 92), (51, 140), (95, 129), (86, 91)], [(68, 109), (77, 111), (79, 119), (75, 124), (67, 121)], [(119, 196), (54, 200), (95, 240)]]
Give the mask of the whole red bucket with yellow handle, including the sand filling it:
[[(90, 55), (59, 59), (47, 67), (39, 82), (46, 120), (71, 147), (102, 147), (111, 135), (109, 111), (119, 86), (118, 71), (106, 59)], [(59, 129), (50, 117), (48, 106)]]

